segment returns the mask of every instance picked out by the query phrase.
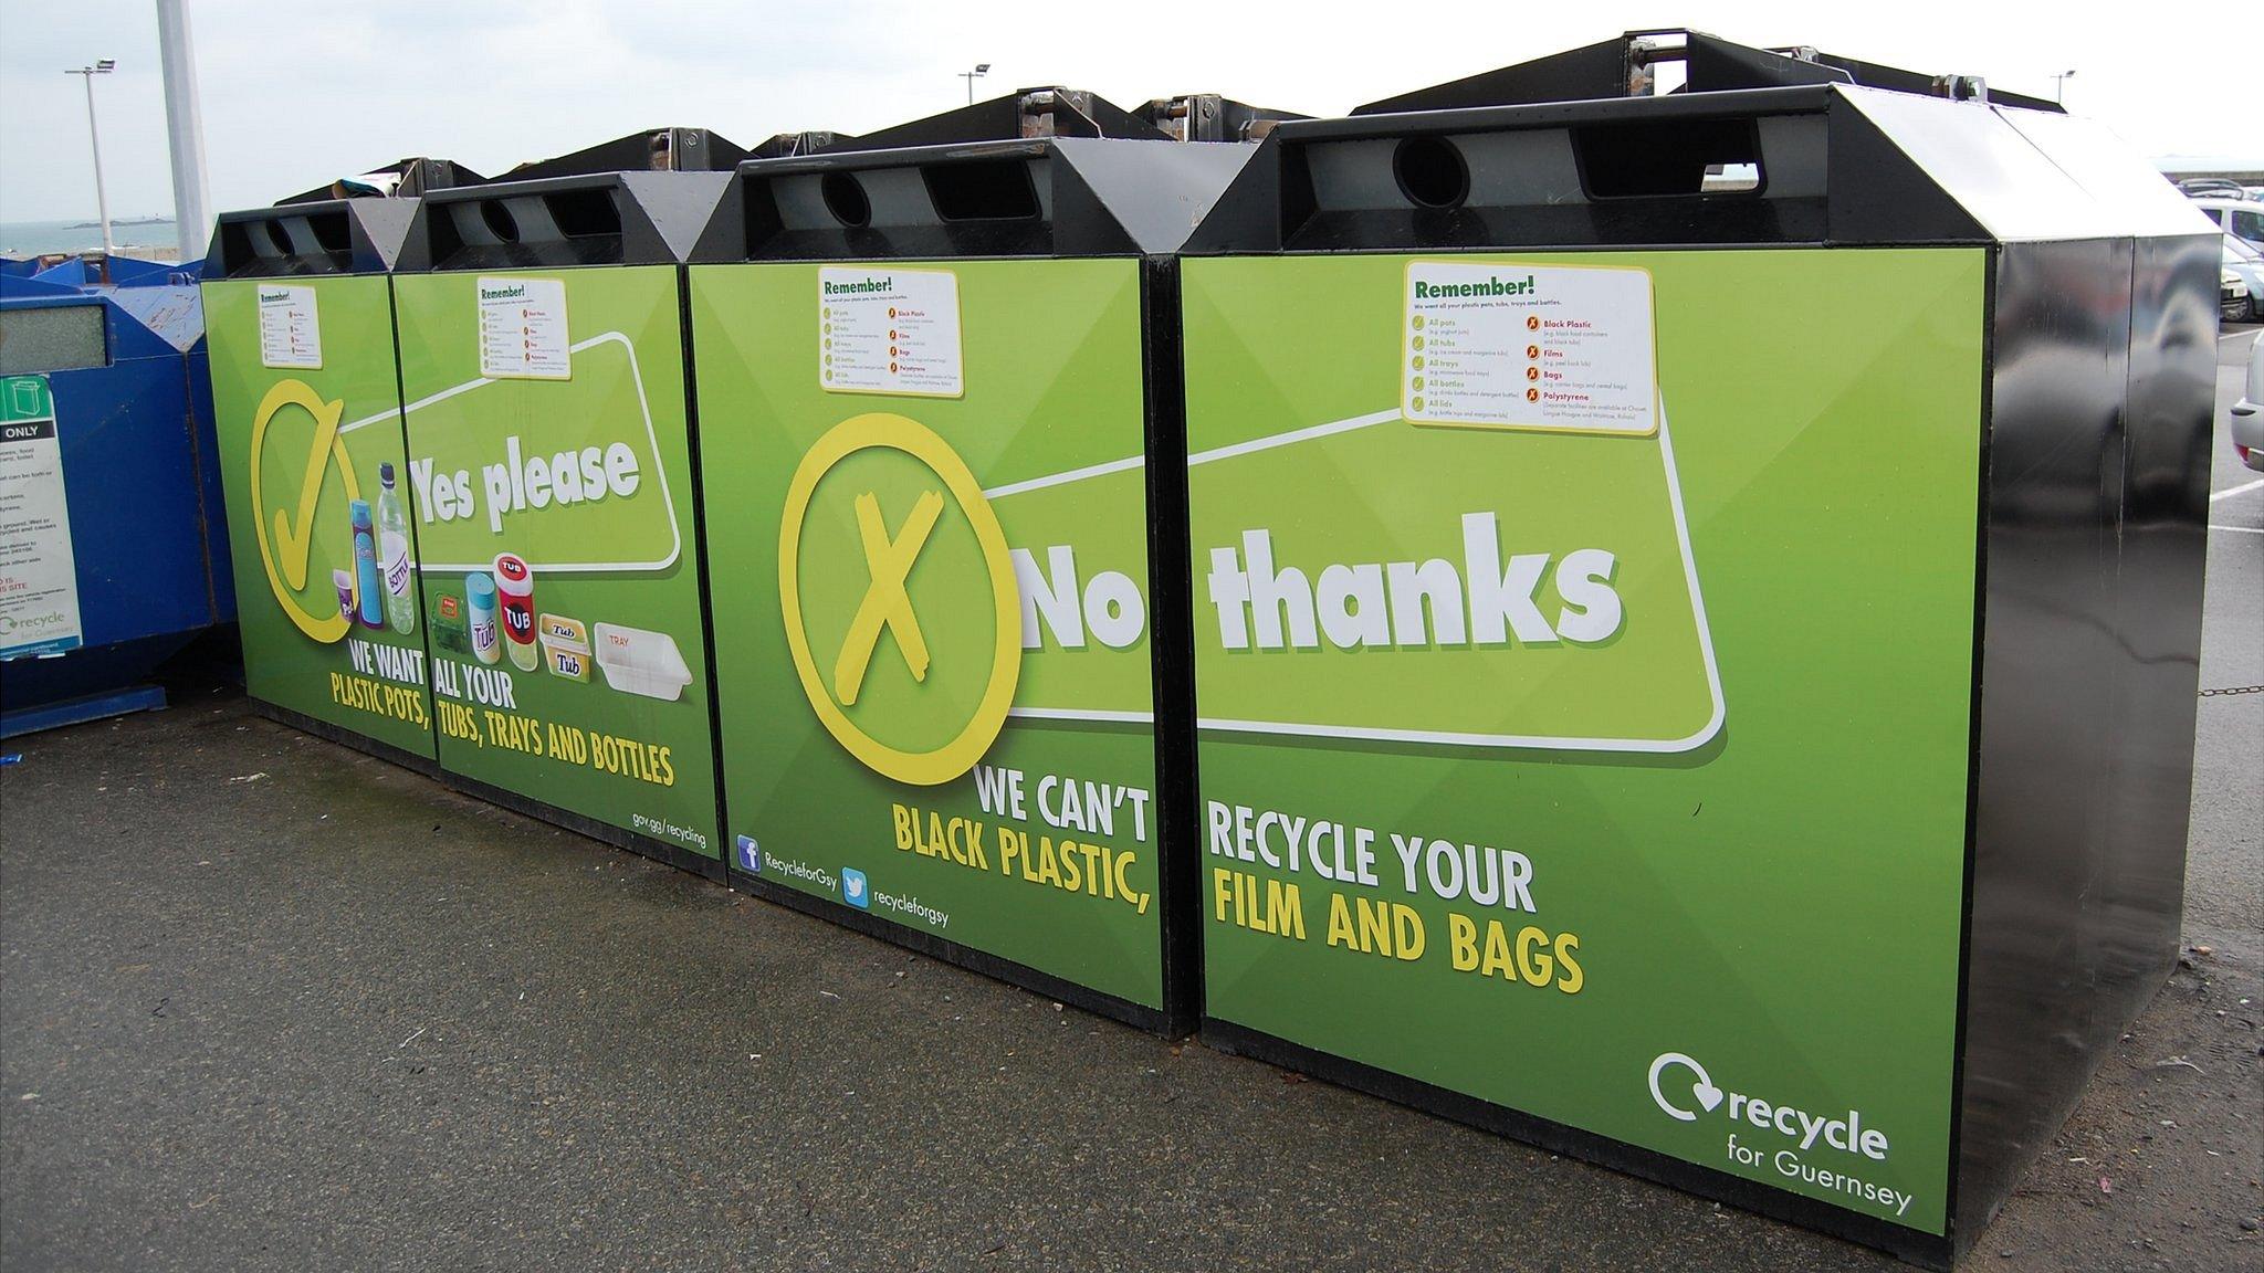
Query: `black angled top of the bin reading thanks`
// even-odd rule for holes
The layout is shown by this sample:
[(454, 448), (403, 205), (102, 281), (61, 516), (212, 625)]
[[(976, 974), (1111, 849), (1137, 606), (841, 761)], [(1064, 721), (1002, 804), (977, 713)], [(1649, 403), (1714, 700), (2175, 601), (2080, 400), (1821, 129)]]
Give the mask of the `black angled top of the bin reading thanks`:
[[(1186, 254), (1990, 245), (2194, 233), (2087, 120), (1920, 77), (1684, 32), (1284, 122)], [(1648, 95), (1648, 68), (1689, 82)], [(1870, 79), (1872, 84), (1863, 84)], [(1630, 95), (1641, 91), (1646, 95)]]

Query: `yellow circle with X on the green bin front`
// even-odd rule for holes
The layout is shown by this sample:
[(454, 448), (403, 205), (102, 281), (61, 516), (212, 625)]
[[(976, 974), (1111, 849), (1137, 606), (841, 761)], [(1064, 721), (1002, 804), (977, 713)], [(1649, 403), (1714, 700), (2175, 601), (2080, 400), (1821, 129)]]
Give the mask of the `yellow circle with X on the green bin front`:
[(996, 512), (928, 426), (840, 421), (795, 469), (779, 605), (811, 709), (883, 777), (964, 775), (1021, 677), (1021, 598)]

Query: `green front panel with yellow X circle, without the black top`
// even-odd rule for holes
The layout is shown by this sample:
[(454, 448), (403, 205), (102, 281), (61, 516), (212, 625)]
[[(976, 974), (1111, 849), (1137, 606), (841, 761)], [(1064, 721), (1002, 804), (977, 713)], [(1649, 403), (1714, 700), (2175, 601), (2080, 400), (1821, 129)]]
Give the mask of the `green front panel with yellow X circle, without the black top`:
[(691, 276), (734, 865), (1161, 1008), (1141, 263)]

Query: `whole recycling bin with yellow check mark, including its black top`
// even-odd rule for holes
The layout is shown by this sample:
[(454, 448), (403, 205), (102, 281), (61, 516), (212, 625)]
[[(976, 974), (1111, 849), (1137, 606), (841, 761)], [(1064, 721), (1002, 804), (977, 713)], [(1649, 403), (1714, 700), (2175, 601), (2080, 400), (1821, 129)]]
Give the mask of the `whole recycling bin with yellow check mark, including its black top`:
[(224, 213), (206, 260), (245, 686), (432, 768), (432, 691), (387, 270), (414, 199)]

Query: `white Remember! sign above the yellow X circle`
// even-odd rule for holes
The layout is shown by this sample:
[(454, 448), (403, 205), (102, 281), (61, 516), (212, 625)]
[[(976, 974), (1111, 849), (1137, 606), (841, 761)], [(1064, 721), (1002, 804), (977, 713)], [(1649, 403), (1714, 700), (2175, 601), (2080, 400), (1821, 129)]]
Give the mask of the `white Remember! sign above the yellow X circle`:
[(967, 394), (960, 276), (949, 270), (817, 270), (817, 383), (833, 394)]

